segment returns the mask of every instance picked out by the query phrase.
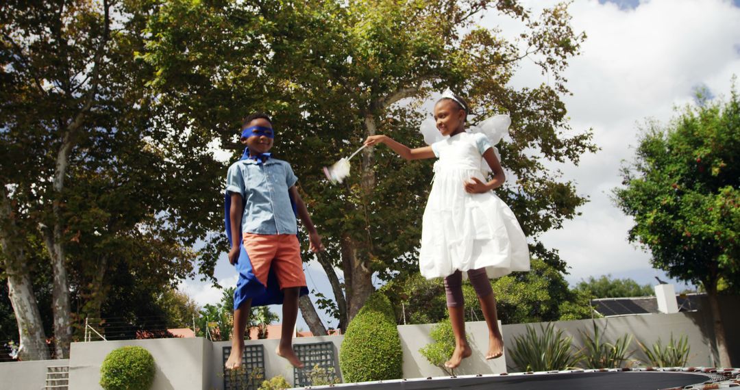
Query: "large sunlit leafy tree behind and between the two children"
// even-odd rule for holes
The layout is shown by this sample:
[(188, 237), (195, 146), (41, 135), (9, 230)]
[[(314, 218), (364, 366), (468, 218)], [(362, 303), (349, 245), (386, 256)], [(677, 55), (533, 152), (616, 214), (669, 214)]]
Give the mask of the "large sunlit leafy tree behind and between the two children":
[[(507, 41), (474, 26), (483, 11), (517, 18), (528, 30)], [(218, 137), (224, 148), (235, 148), (238, 118), (249, 111), (275, 114), (274, 149), (294, 162), (325, 238), (326, 256), (317, 261), (332, 283), (339, 327), (346, 329), (374, 290), (373, 275), (388, 280), (417, 267), (431, 162), (405, 163), (388, 150), (368, 148), (339, 186), (327, 185), (321, 167), (378, 131), (420, 146), (423, 115), (414, 104), (446, 86), (467, 95), (479, 117), (511, 113), (511, 141), (501, 149), (517, 179), (498, 194), (534, 240), (532, 252), (565, 270), (537, 237), (585, 202), (572, 182), (542, 162), (578, 163), (595, 150), (590, 132), (570, 134), (560, 100), (568, 93), (562, 70), (585, 38), (571, 30), (569, 18), (559, 5), (536, 19), (517, 1), (180, 0), (156, 7), (142, 56), (155, 69), (150, 85), (163, 111), (205, 140)], [(541, 66), (551, 83), (511, 87), (524, 58)], [(537, 153), (525, 152), (530, 148)]]

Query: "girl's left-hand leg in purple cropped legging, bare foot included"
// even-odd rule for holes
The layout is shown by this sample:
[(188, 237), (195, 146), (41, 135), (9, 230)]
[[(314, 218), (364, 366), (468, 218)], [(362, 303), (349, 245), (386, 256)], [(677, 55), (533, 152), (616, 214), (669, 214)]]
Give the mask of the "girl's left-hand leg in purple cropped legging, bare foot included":
[(452, 333), (455, 335), (455, 350), (445, 367), (454, 369), (460, 366), (462, 359), (472, 355), (468, 339), (465, 338), (465, 302), (462, 299), (462, 273), (455, 271), (445, 278), (447, 310), (450, 313)]

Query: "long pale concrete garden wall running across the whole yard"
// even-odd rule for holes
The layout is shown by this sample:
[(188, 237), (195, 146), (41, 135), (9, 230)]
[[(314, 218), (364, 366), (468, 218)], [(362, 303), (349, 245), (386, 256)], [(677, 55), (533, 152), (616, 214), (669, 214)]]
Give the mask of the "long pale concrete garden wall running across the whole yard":
[[(727, 344), (730, 356), (733, 357), (733, 366), (740, 366), (740, 298), (720, 297), (721, 315), (724, 329), (727, 333)], [(643, 343), (651, 345), (659, 338), (665, 343), (670, 338), (687, 335), (691, 352), (689, 366), (716, 366), (717, 357), (713, 355), (714, 332), (712, 321), (708, 315), (708, 304), (702, 302), (699, 312), (682, 312), (677, 314), (631, 315), (625, 317), (599, 318), (596, 324), (605, 327), (605, 338), (616, 341), (624, 334), (635, 335)], [(539, 324), (529, 324), (539, 329)], [(403, 348), (403, 376), (437, 377), (446, 373), (423, 357), (419, 349), (431, 343), (429, 332), (431, 324), (401, 325), (398, 331)], [(591, 332), (591, 320), (556, 322), (556, 329), (563, 329), (566, 335), (573, 336), (573, 347), (582, 348), (582, 339), (578, 330)], [(511, 324), (502, 326), (505, 346), (509, 349), (514, 346), (514, 337), (525, 332), (525, 324)], [(455, 374), (499, 374), (502, 372), (517, 372), (511, 355), (506, 354), (494, 360), (485, 360), (485, 351), (488, 349), (488, 330), (485, 322), (469, 322), (465, 324), (473, 355), (463, 360)], [(339, 349), (343, 336), (326, 336), (315, 338), (295, 338), (294, 343), (319, 343), (329, 341), (334, 343), (334, 355), (337, 357), (337, 373), (341, 375), (338, 366)], [(643, 358), (639, 346), (633, 341), (632, 349), (636, 351), (633, 357)], [(249, 344), (261, 344), (265, 352), (265, 377), (283, 375), (289, 383), (293, 381), (293, 369), (289, 363), (275, 355), (277, 340), (246, 341)], [(203, 338), (169, 338), (153, 340), (130, 341), (95, 341), (91, 343), (73, 343), (69, 360), (41, 360), (32, 362), (0, 363), (0, 387), (2, 389), (41, 389), (44, 386), (47, 366), (70, 366), (70, 389), (88, 390), (101, 389), (100, 366), (104, 358), (113, 349), (121, 346), (143, 346), (155, 358), (157, 367), (155, 390), (223, 390), (223, 346), (229, 341), (212, 343)]]

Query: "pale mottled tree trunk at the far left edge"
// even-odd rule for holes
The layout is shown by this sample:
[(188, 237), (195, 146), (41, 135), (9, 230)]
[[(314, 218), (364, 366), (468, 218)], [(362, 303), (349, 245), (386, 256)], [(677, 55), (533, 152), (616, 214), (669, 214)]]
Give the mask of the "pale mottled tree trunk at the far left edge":
[(15, 213), (5, 184), (0, 183), (0, 245), (6, 260), (4, 268), (7, 273), (8, 298), (16, 314), (19, 341), (23, 346), (20, 357), (22, 360), (46, 360), (49, 358), (49, 349), (33, 283), (26, 269), (27, 259), (23, 250), (25, 239), (18, 236), (20, 230), (13, 215)]

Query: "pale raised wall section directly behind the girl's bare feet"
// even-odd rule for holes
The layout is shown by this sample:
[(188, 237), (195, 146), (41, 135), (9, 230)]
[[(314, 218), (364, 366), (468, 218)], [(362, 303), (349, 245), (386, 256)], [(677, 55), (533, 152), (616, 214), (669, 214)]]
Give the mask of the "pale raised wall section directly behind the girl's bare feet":
[[(440, 367), (432, 366), (426, 360), (426, 357), (419, 352), (419, 349), (423, 346), (434, 342), (429, 335), (432, 326), (434, 325), (398, 326), (401, 348), (403, 349), (403, 377), (441, 377), (448, 375)], [(499, 321), (500, 326), (501, 322)], [(468, 335), (468, 343), (470, 343), (473, 350), (473, 355), (462, 360), (462, 364), (454, 370), (454, 374), (501, 374), (506, 372), (505, 351), (504, 357), (485, 360), (485, 353), (488, 352), (488, 326), (485, 325), (485, 321), (465, 323), (465, 333)]]

